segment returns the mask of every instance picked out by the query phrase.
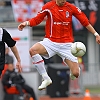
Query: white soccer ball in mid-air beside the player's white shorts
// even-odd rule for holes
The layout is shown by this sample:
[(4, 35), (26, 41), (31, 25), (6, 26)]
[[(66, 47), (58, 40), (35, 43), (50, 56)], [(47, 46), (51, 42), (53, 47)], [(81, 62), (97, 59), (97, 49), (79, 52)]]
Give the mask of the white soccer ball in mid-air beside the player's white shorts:
[(82, 42), (74, 42), (71, 46), (71, 53), (75, 57), (82, 57), (86, 53), (86, 46)]

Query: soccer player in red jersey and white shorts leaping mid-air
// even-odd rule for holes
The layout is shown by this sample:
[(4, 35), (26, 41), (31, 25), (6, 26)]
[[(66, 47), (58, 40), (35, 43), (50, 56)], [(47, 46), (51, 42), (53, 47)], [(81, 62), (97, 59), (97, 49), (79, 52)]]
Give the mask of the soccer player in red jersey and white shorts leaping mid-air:
[(36, 17), (22, 22), (18, 26), (18, 29), (22, 31), (25, 26), (36, 26), (44, 20), (44, 17), (47, 17), (45, 38), (43, 41), (34, 44), (29, 50), (33, 64), (43, 77), (43, 82), (38, 88), (39, 90), (45, 89), (48, 85), (52, 84), (41, 56), (48, 59), (58, 54), (69, 66), (71, 79), (78, 78), (80, 74), (77, 57), (74, 57), (70, 52), (72, 42), (74, 41), (72, 16), (75, 16), (88, 31), (94, 34), (96, 42), (100, 44), (100, 36), (91, 26), (85, 14), (78, 7), (66, 0), (55, 0), (46, 3)]

